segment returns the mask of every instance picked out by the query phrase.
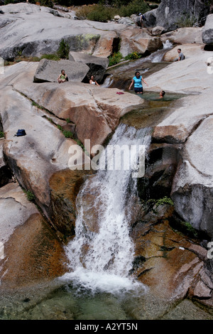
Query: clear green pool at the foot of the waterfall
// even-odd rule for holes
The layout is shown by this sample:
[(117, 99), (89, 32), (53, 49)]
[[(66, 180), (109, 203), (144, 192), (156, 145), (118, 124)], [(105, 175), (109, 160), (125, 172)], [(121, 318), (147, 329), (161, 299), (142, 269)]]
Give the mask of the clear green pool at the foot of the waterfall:
[[(92, 293), (60, 281), (1, 291), (0, 320), (212, 320), (213, 311), (183, 300), (168, 303), (146, 291)], [(85, 322), (87, 323), (87, 321)]]

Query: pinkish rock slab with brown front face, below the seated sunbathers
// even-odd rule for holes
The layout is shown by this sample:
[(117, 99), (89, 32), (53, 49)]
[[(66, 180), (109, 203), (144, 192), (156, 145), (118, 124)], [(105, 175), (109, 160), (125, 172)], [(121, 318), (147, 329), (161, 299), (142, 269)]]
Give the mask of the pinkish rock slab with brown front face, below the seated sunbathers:
[(121, 116), (132, 108), (143, 104), (143, 99), (125, 92), (122, 95), (117, 89), (108, 89), (82, 82), (35, 83), (33, 69), (35, 65), (20, 73), (13, 80), (13, 87), (48, 109), (60, 119), (70, 119), (76, 124), (78, 139), (90, 139), (91, 147), (103, 144), (107, 136), (119, 124)]

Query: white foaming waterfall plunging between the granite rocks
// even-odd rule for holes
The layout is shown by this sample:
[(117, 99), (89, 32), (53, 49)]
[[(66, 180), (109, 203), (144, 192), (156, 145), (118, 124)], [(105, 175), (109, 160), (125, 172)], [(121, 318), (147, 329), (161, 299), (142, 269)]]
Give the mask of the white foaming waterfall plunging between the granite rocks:
[[(107, 147), (148, 147), (150, 132), (150, 129), (136, 130), (120, 124)], [(111, 152), (115, 153), (114, 150)], [(133, 289), (129, 271), (132, 268), (134, 247), (129, 237), (129, 221), (137, 200), (136, 178), (131, 176), (133, 162), (136, 163), (138, 155), (139, 150), (135, 150), (134, 154), (131, 151), (129, 163), (125, 161), (129, 159), (128, 154), (124, 154), (121, 170), (109, 170), (107, 161), (109, 163), (112, 156), (107, 153), (105, 170), (97, 171), (84, 183), (77, 196), (75, 238), (66, 247), (70, 273), (65, 274), (64, 279), (72, 279), (92, 291)], [(131, 167), (129, 170), (124, 168), (128, 163)], [(88, 196), (92, 196), (93, 200), (88, 201)], [(88, 225), (93, 226), (92, 231)]]

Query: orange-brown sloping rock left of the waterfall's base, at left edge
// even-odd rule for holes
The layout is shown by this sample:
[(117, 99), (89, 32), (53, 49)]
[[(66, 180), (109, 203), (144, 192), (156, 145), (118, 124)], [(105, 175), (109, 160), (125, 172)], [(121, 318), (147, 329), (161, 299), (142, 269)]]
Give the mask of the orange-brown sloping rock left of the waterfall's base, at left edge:
[[(15, 213), (13, 207), (13, 217)], [(4, 252), (6, 261), (0, 262), (1, 289), (53, 281), (67, 270), (62, 244), (38, 212), (26, 216), (23, 224), (16, 227)]]

